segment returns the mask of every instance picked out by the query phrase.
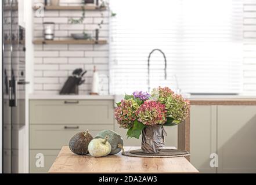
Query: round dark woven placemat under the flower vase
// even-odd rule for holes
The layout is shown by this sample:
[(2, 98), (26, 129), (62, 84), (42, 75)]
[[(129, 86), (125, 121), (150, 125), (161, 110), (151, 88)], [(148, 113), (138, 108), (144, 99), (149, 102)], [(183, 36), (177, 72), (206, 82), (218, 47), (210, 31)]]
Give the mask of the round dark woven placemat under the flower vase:
[(176, 150), (176, 149), (163, 149), (158, 153), (147, 154), (143, 153), (141, 149), (139, 150), (130, 150), (122, 152), (123, 156), (130, 157), (184, 157), (190, 156), (190, 153), (186, 150)]

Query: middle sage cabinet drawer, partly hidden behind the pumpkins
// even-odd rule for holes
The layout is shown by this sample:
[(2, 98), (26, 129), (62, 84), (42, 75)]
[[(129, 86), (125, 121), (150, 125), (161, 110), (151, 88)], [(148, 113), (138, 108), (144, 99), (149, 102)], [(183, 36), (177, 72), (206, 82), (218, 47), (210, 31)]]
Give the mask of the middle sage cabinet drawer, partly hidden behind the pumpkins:
[(30, 149), (61, 149), (77, 132), (89, 129), (94, 137), (103, 129), (114, 129), (112, 125), (30, 125)]

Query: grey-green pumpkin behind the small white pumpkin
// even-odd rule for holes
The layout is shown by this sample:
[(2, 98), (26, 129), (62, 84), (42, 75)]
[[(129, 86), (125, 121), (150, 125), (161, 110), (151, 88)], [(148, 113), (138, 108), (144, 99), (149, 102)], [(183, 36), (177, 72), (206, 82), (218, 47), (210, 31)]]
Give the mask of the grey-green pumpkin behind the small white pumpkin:
[(124, 140), (122, 140), (121, 135), (119, 135), (117, 132), (112, 131), (110, 129), (105, 129), (103, 131), (100, 131), (95, 138), (106, 138), (106, 136), (109, 137), (107, 141), (111, 145), (111, 152), (110, 154), (117, 154), (123, 149), (124, 146)]

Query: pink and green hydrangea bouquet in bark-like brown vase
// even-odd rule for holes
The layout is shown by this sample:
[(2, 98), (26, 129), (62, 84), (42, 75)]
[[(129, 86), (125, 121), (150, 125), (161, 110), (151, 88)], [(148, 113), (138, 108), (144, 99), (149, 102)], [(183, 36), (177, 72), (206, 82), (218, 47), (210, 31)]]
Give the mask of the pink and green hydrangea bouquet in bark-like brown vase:
[(135, 91), (117, 103), (114, 116), (128, 138), (142, 134), (143, 153), (158, 153), (164, 147), (165, 127), (185, 121), (190, 103), (168, 87), (154, 88), (151, 94)]

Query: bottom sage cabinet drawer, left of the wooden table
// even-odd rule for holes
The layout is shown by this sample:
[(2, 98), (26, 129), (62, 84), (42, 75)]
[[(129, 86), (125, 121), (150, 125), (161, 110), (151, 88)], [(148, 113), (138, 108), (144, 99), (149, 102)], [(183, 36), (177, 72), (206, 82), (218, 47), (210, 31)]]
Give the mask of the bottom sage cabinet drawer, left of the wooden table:
[[(30, 173), (48, 173), (60, 150), (30, 150)], [(37, 154), (44, 156), (43, 166), (37, 166)], [(41, 156), (40, 156), (41, 157)], [(41, 158), (39, 159), (41, 160)]]

